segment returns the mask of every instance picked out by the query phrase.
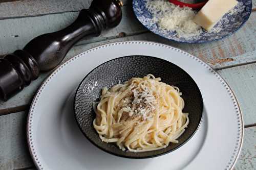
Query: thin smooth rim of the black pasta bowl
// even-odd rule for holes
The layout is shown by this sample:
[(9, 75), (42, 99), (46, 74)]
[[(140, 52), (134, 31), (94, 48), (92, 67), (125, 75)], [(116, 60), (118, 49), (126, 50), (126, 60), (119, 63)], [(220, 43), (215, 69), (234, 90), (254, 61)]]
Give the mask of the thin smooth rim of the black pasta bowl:
[[(83, 134), (93, 145), (95, 145), (95, 146), (96, 146), (97, 148), (99, 148), (100, 150), (102, 150), (102, 151), (104, 151), (104, 152), (106, 152), (106, 153), (109, 153), (109, 154), (111, 154), (111, 155), (115, 155), (115, 156), (123, 157), (123, 158), (130, 158), (130, 159), (154, 158), (154, 157), (158, 157), (158, 156), (162, 156), (162, 155), (168, 154), (168, 153), (173, 152), (173, 151), (179, 149), (180, 147), (182, 147), (189, 139), (191, 139), (191, 137), (193, 137), (193, 136), (195, 135), (195, 133), (197, 132), (198, 128), (200, 127), (201, 122), (202, 122), (202, 119), (203, 119), (204, 103), (203, 103), (202, 93), (201, 93), (201, 91), (200, 91), (200, 89), (199, 89), (197, 83), (195, 82), (195, 80), (194, 80), (184, 69), (182, 69), (182, 68), (179, 67), (178, 65), (174, 64), (175, 66), (177, 66), (177, 67), (179, 67), (180, 69), (182, 69), (183, 71), (185, 71), (186, 74), (191, 78), (191, 80), (194, 81), (194, 83), (196, 84), (197, 88), (199, 89), (199, 94), (200, 94), (200, 96), (201, 96), (201, 103), (202, 103), (202, 108), (201, 108), (202, 113), (201, 113), (201, 119), (200, 119), (200, 121), (199, 121), (199, 123), (198, 123), (198, 125), (197, 125), (197, 129), (196, 129), (183, 143), (181, 143), (178, 147), (176, 147), (176, 148), (174, 148), (174, 149), (172, 149), (172, 150), (166, 151), (166, 152), (161, 153), (161, 154), (148, 155), (148, 156), (140, 156), (140, 157), (119, 155), (119, 154), (116, 154), (115, 152), (107, 151), (107, 150), (105, 150), (104, 148), (99, 147), (99, 145), (97, 145), (97, 143), (95, 143), (93, 140), (91, 140), (91, 139), (87, 136), (87, 134), (83, 132), (83, 130), (82, 130), (82, 128), (80, 127), (80, 124), (79, 124), (79, 122), (78, 122), (78, 120), (77, 120), (77, 116), (76, 116), (76, 112), (75, 112), (75, 101), (76, 101), (75, 99), (76, 99), (76, 95), (77, 95), (78, 89), (79, 89), (79, 87), (81, 86), (81, 84), (83, 83), (83, 81), (91, 74), (91, 72), (93, 72), (93, 71), (94, 71), (96, 68), (98, 68), (99, 66), (101, 66), (101, 65), (103, 65), (103, 64), (105, 64), (105, 63), (107, 63), (107, 62), (110, 62), (110, 61), (112, 61), (112, 60), (116, 60), (116, 59), (120, 59), (120, 58), (125, 58), (125, 57), (133, 57), (133, 56), (151, 57), (151, 58), (155, 58), (155, 59), (158, 59), (158, 60), (162, 60), (162, 61), (164, 61), (164, 62), (169, 62), (169, 63), (171, 63), (171, 64), (174, 64), (174, 63), (172, 63), (172, 62), (170, 62), (170, 61), (167, 61), (167, 60), (164, 60), (164, 59), (161, 59), (161, 58), (158, 58), (158, 57), (144, 56), (144, 55), (123, 56), (123, 57), (118, 57), (118, 58), (114, 58), (114, 59), (108, 60), (108, 61), (106, 61), (106, 62), (103, 62), (102, 64), (100, 64), (100, 65), (96, 66), (95, 68), (93, 68), (93, 69), (82, 79), (82, 81), (79, 83), (79, 86), (78, 86), (77, 89), (76, 89), (76, 92), (75, 92), (75, 95), (74, 95), (74, 100), (73, 100), (74, 116), (75, 116), (76, 123), (77, 123), (77, 125), (78, 125), (80, 131), (82, 132), (82, 134)], [(103, 141), (102, 141), (102, 142), (103, 142)], [(123, 152), (127, 152), (127, 151), (123, 151)]]

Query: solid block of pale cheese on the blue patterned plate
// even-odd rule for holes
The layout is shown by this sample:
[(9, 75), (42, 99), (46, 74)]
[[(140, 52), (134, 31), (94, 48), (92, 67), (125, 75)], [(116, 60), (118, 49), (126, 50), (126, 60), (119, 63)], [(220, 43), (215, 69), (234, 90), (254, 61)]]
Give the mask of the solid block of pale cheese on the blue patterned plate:
[(210, 31), (223, 15), (237, 4), (236, 0), (209, 0), (197, 13), (193, 21), (205, 30)]

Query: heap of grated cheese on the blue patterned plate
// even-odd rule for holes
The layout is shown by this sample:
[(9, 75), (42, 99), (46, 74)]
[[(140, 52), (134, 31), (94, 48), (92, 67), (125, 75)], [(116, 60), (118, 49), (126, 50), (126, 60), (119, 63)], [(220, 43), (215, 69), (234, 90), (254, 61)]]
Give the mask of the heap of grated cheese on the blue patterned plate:
[(180, 8), (167, 0), (149, 0), (146, 8), (152, 13), (153, 21), (160, 29), (176, 32), (179, 38), (189, 38), (202, 33), (202, 28), (193, 21), (196, 12), (191, 8)]

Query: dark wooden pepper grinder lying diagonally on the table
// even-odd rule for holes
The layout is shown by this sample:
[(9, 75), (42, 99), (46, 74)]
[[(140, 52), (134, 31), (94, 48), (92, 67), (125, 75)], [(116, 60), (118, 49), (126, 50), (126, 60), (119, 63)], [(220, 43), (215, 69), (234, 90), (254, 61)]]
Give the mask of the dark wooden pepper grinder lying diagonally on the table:
[(81, 38), (100, 35), (116, 27), (122, 18), (119, 0), (93, 0), (89, 9), (82, 9), (67, 28), (32, 39), (23, 50), (0, 59), (0, 98), (7, 101), (13, 94), (28, 86), (40, 71), (56, 67), (70, 48)]

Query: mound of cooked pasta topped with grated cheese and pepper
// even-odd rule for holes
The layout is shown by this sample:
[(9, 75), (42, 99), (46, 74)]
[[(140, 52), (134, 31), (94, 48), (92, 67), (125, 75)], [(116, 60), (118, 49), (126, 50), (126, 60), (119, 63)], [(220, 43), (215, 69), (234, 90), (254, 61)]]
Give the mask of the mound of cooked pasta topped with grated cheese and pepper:
[(103, 88), (100, 102), (93, 104), (93, 126), (104, 142), (115, 142), (125, 151), (144, 152), (178, 143), (188, 125), (184, 100), (178, 87), (147, 75)]

